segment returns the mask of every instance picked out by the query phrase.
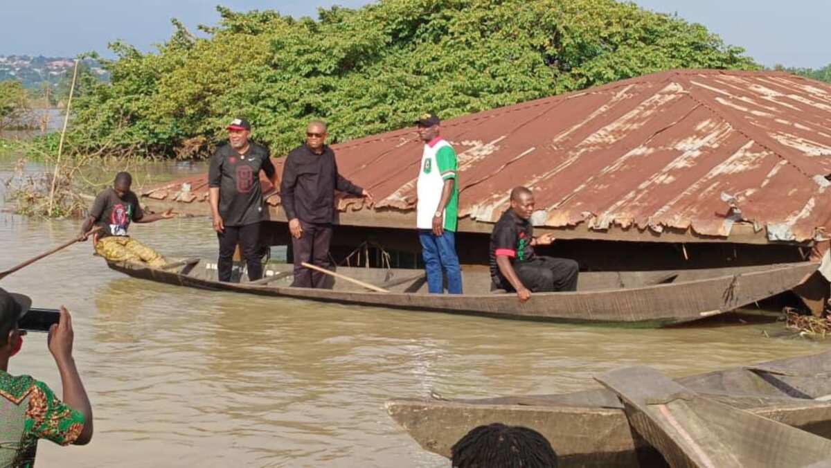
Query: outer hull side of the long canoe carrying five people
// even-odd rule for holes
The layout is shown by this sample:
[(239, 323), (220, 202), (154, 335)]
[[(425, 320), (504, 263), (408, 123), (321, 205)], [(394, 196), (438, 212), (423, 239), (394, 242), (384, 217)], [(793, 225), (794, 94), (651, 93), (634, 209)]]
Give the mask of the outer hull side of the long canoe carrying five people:
[[(291, 288), (282, 285), (220, 283), (181, 271), (109, 262), (135, 278), (190, 288), (224, 290), (313, 301), (351, 303), (411, 311), (465, 313), (570, 323), (630, 323), (642, 327), (684, 323), (740, 308), (794, 288), (816, 264), (771, 265), (744, 273), (636, 288), (605, 288), (573, 293), (534, 293), (526, 303), (514, 294), (372, 293), (360, 290)], [(345, 269), (345, 268), (344, 268)], [(360, 273), (362, 268), (353, 268)], [(341, 268), (338, 271), (342, 271)], [(592, 274), (592, 273), (588, 273)]]

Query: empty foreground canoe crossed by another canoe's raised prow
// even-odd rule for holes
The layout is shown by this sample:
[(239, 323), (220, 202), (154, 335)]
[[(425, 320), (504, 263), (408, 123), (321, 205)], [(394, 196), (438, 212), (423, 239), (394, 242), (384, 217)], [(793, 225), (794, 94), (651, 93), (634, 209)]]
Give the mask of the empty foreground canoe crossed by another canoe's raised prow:
[[(831, 438), (831, 351), (675, 380), (713, 401)], [(482, 424), (528, 426), (545, 436), (561, 466), (666, 466), (627, 421), (614, 392), (478, 400), (392, 400), (391, 417), (421, 447), (450, 456), (450, 446)]]

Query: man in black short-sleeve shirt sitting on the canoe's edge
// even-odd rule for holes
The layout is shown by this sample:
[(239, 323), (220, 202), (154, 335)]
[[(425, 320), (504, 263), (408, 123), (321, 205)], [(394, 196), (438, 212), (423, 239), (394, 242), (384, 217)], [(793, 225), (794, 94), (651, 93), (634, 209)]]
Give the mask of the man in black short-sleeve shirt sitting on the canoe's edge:
[(533, 213), (534, 194), (526, 187), (516, 187), (511, 190), (510, 209), (502, 214), (490, 235), (492, 286), (516, 291), (523, 303), (531, 298), (531, 292), (577, 289), (577, 262), (534, 255), (535, 245), (549, 245), (554, 238), (551, 234), (534, 238), (529, 221)]

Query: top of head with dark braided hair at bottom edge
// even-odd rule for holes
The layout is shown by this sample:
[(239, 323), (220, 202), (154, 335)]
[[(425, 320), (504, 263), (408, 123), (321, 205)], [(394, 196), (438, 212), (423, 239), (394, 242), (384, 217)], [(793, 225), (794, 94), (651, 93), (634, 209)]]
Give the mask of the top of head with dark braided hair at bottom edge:
[(450, 452), (454, 468), (557, 467), (557, 453), (542, 434), (500, 422), (475, 427)]

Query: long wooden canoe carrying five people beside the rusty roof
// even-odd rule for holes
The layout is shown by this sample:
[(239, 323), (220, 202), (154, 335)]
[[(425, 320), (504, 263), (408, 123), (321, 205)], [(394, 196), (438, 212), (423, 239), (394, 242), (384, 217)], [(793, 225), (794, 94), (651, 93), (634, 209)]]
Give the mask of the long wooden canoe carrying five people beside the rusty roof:
[[(220, 283), (215, 263), (195, 260), (191, 264), (173, 260), (175, 267), (171, 268), (129, 262), (108, 264), (135, 278), (191, 288), (413, 311), (643, 327), (690, 322), (740, 308), (794, 288), (818, 267), (803, 262), (671, 272), (588, 272), (580, 273), (576, 292), (534, 293), (528, 302), (519, 303), (514, 293), (490, 293), (488, 269), (482, 267), (463, 268), (465, 294), (450, 295), (427, 294), (425, 278), (412, 269), (337, 268), (338, 273), (350, 278), (390, 289), (390, 293), (374, 293), (337, 278), (329, 278), (329, 288), (325, 289), (291, 288), (291, 276), (267, 283)], [(266, 279), (291, 268), (270, 267)]]

